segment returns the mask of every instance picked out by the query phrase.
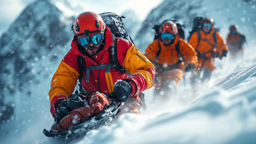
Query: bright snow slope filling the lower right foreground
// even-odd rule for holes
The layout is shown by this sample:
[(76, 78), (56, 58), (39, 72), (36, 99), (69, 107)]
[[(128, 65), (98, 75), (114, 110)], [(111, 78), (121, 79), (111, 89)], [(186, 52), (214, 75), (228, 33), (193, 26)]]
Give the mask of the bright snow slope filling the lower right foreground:
[[(214, 74), (187, 103), (184, 100), (193, 97), (191, 89), (181, 92), (180, 85), (179, 93), (187, 94), (175, 95), (165, 110), (147, 103), (148, 112), (123, 115), (116, 124), (91, 131), (78, 143), (255, 143), (255, 55), (247, 60), (252, 62), (249, 67), (238, 62), (240, 70), (230, 73), (236, 67), (233, 64), (219, 83), (214, 82)], [(145, 93), (151, 94), (150, 90)]]

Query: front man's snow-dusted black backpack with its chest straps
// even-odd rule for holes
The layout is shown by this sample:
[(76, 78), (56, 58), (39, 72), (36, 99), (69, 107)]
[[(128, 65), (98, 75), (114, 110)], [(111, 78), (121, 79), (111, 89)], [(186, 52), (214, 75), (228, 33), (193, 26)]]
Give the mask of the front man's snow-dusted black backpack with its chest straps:
[[(102, 70), (102, 69), (107, 69), (106, 73), (109, 72), (111, 67), (114, 67), (118, 71), (123, 71), (126, 74), (130, 73), (126, 71), (125, 68), (123, 68), (120, 64), (120, 62), (117, 59), (117, 44), (116, 44), (116, 37), (124, 38), (126, 40), (132, 41), (132, 38), (130, 38), (129, 34), (126, 34), (124, 31), (124, 23), (122, 18), (125, 18), (124, 16), (118, 16), (115, 13), (102, 13), (100, 14), (102, 17), (103, 21), (105, 22), (106, 26), (108, 26), (109, 29), (111, 29), (112, 33), (112, 38), (114, 43), (111, 45), (112, 48), (109, 48), (109, 61), (111, 64), (103, 64), (99, 66), (93, 66), (93, 67), (87, 67), (85, 64), (85, 58), (83, 56), (78, 57), (78, 65), (79, 65), (79, 91), (84, 92), (82, 88), (82, 77), (84, 74), (84, 71), (87, 71), (87, 82), (90, 79), (90, 71), (91, 70)], [(133, 41), (132, 41), (133, 42)]]

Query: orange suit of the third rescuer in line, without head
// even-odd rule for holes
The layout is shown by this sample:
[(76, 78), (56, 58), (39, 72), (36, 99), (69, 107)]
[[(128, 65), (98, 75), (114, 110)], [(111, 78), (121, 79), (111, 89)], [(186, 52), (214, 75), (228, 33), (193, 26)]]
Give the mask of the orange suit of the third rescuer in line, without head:
[[(227, 45), (224, 43), (224, 40), (221, 37), (221, 34), (216, 31), (216, 41), (213, 38), (213, 33), (215, 29), (212, 26), (212, 31), (209, 34), (205, 34), (202, 30), (200, 30), (200, 41), (198, 42), (198, 34), (194, 32), (190, 39), (189, 44), (196, 50), (198, 53), (198, 67), (201, 68), (204, 66), (205, 68), (209, 68), (210, 70), (215, 70), (213, 52), (218, 54), (217, 57), (221, 57), (223, 50), (228, 51)], [(203, 55), (203, 56), (201, 56)], [(202, 65), (203, 64), (203, 65)]]

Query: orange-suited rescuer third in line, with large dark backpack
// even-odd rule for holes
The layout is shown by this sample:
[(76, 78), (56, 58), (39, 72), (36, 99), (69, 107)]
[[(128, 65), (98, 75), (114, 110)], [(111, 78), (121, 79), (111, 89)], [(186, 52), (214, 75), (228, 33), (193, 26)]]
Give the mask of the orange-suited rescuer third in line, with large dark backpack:
[(194, 32), (189, 39), (189, 44), (194, 47), (198, 56), (198, 71), (192, 77), (192, 83), (198, 79), (201, 70), (204, 70), (202, 81), (210, 79), (212, 71), (215, 70), (214, 58), (227, 55), (228, 47), (213, 25), (213, 19), (205, 17), (201, 29)]

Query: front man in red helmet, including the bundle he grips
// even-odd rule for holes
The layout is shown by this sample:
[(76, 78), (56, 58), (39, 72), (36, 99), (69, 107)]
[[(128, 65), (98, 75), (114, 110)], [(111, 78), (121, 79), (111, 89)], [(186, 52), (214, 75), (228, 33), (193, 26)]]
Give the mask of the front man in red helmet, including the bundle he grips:
[[(123, 112), (140, 113), (142, 106), (139, 94), (151, 88), (154, 82), (154, 66), (128, 40), (116, 38), (105, 25), (99, 14), (87, 11), (79, 14), (73, 24), (75, 34), (71, 49), (59, 64), (53, 75), (49, 91), (50, 112), (57, 124), (53, 130), (66, 130), (92, 116), (108, 106), (111, 98), (124, 102)], [(116, 47), (118, 64), (123, 71), (111, 65)], [(88, 95), (85, 102), (72, 95), (79, 78), (78, 57), (85, 61), (85, 72), (82, 73), (82, 88)], [(114, 59), (114, 58), (113, 58)], [(68, 98), (80, 101), (79, 108), (72, 110)], [(82, 107), (81, 107), (82, 106)]]

